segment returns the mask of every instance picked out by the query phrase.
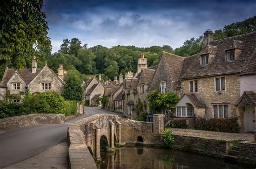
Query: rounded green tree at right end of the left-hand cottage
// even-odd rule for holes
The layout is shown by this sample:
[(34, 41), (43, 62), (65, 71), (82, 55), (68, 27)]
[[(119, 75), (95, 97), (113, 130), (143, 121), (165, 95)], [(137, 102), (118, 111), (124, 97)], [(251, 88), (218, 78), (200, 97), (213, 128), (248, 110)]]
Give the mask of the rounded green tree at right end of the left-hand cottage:
[(66, 100), (81, 102), (83, 100), (82, 75), (77, 70), (69, 70), (64, 77), (64, 82), (62, 96)]

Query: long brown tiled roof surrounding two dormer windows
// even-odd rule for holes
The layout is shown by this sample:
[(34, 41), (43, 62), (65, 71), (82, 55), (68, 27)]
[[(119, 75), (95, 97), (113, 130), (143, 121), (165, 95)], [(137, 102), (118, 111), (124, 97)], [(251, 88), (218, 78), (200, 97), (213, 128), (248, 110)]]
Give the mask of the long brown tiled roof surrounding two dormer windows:
[[(225, 61), (225, 51), (231, 49), (242, 49), (239, 57), (234, 61)], [(214, 76), (223, 74), (234, 74), (244, 71), (255, 72), (255, 48), (256, 32), (242, 34), (240, 36), (211, 41), (210, 47), (206, 46), (203, 50), (193, 55), (191, 64), (181, 72), (181, 79), (200, 78), (204, 76)], [(216, 53), (213, 60), (206, 66), (200, 65), (200, 54), (207, 52)], [(251, 58), (253, 59), (251, 60)], [(186, 60), (186, 59), (185, 59)], [(251, 61), (251, 64), (248, 64)]]

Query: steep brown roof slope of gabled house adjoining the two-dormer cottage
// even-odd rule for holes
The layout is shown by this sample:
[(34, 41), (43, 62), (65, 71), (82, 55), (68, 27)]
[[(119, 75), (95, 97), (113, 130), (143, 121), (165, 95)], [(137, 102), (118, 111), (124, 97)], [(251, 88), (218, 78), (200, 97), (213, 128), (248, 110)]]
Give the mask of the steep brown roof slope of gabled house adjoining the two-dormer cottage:
[(163, 52), (162, 58), (164, 59), (167, 71), (169, 71), (171, 76), (173, 88), (180, 87), (180, 73), (185, 58), (167, 52)]

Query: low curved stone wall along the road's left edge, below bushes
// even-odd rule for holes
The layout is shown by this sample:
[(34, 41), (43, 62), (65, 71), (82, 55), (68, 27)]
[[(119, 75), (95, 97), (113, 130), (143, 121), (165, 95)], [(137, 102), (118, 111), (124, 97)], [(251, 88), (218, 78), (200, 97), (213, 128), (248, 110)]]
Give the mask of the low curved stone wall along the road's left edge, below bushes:
[(64, 124), (63, 114), (30, 114), (0, 119), (0, 130), (10, 130), (38, 124)]

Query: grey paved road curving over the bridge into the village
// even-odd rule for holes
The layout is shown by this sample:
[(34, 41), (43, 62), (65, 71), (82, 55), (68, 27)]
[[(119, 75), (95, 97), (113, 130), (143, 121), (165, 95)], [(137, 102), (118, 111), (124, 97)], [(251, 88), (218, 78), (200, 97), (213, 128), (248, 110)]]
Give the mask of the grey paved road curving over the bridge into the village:
[(0, 133), (0, 168), (17, 164), (66, 141), (68, 124), (95, 114), (110, 113), (100, 108), (84, 107), (84, 115), (65, 121), (65, 124), (35, 125)]

